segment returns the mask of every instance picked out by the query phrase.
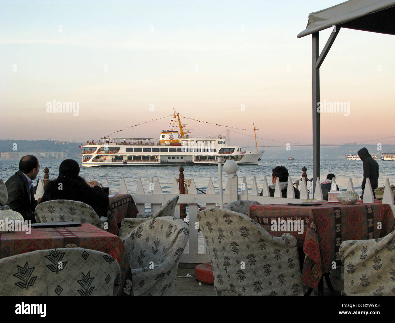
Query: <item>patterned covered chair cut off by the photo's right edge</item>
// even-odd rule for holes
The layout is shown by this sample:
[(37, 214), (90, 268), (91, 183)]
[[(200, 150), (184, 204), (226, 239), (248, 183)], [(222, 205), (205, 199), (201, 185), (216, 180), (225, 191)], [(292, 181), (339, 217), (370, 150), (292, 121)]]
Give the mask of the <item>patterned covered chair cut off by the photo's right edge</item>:
[(343, 241), (346, 295), (395, 295), (395, 231), (370, 240)]

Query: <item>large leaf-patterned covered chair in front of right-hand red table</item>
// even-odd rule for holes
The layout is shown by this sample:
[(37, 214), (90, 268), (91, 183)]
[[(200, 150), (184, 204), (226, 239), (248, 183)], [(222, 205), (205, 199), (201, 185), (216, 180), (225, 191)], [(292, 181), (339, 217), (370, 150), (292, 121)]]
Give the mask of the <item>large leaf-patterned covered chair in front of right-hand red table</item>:
[(197, 220), (217, 294), (303, 295), (296, 239), (290, 233), (274, 237), (246, 215), (228, 210), (203, 210)]

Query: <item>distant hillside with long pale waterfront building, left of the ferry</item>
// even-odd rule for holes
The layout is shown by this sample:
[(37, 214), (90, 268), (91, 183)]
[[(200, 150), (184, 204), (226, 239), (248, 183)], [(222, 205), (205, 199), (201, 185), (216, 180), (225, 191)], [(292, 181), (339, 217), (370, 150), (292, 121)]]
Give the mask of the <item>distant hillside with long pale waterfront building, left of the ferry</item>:
[(0, 140), (0, 152), (15, 151), (13, 147), (17, 144), (16, 151), (26, 151), (32, 153), (38, 152), (60, 152), (67, 153), (69, 157), (73, 155), (80, 155), (81, 144), (77, 142), (64, 142), (64, 141), (50, 141), (50, 140)]

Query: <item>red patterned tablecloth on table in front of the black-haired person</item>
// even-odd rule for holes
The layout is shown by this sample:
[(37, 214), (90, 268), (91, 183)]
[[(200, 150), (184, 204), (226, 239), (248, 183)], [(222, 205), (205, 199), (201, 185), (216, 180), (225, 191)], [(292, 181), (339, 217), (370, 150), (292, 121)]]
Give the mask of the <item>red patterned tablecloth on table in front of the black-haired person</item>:
[(119, 232), (118, 224), (124, 218), (135, 218), (139, 211), (137, 211), (137, 207), (130, 194), (115, 194), (115, 196), (111, 196), (109, 199), (111, 215), (108, 217), (108, 232), (117, 235)]

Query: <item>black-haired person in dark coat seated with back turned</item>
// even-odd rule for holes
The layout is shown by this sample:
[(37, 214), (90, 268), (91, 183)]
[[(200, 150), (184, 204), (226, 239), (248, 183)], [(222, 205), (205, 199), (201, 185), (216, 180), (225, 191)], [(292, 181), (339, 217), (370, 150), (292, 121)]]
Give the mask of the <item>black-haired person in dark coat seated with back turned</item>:
[(51, 200), (73, 200), (90, 205), (99, 217), (107, 217), (109, 198), (95, 183), (92, 187), (79, 175), (79, 164), (73, 159), (65, 159), (59, 166), (59, 176), (49, 181), (44, 188), (40, 203)]

